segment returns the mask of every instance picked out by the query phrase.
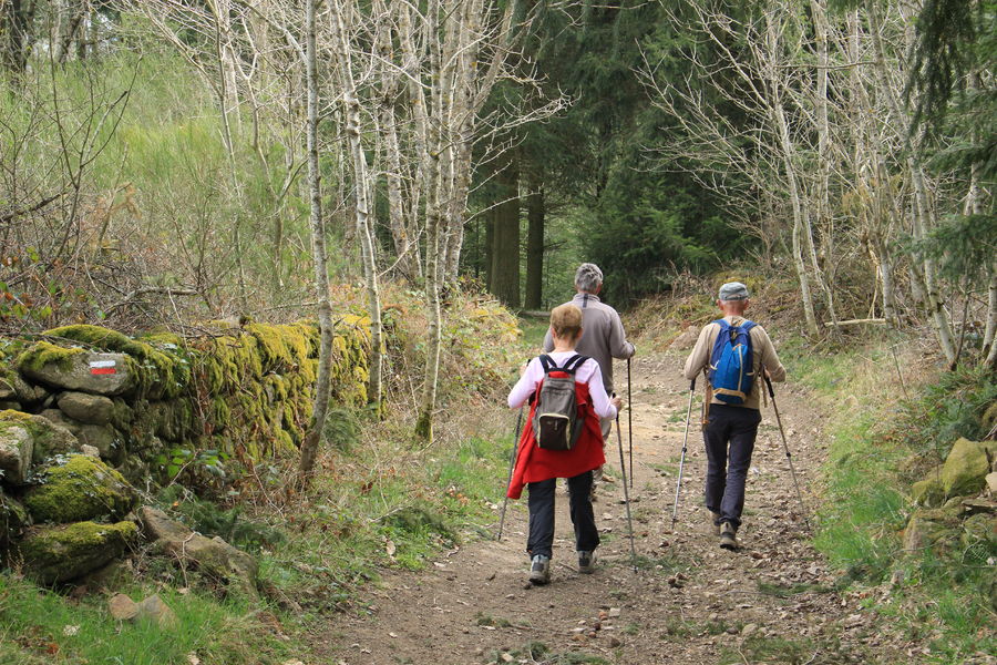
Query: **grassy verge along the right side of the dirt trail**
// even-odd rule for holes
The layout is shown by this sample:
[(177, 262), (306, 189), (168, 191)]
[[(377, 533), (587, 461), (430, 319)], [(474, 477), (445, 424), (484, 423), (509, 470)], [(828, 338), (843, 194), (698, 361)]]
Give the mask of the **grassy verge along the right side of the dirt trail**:
[(994, 653), (997, 542), (964, 543), (950, 554), (905, 553), (901, 543), (916, 509), (911, 483), (944, 461), (957, 438), (981, 440), (993, 427), (984, 413), (997, 399), (994, 375), (945, 372), (915, 348), (882, 342), (823, 356), (792, 346), (783, 350), (790, 372), (830, 413), (814, 544), (842, 571), (842, 584), (882, 585), (886, 592), (866, 604), (909, 638), (928, 642), (933, 662)]

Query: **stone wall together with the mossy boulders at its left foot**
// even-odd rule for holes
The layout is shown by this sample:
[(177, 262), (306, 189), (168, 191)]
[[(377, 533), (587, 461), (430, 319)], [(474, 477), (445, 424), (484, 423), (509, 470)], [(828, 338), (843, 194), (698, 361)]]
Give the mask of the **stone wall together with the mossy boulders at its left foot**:
[[(332, 401), (341, 406), (367, 401), (367, 324), (343, 316), (337, 325)], [(134, 524), (122, 519), (137, 500), (129, 481), (168, 480), (201, 453), (243, 463), (294, 454), (311, 417), (319, 344), (308, 321), (194, 339), (84, 325), (0, 338), (0, 557), (12, 552), (40, 580), (63, 581), (80, 571), (55, 573), (38, 552), (50, 541), (65, 551), (124, 548)]]

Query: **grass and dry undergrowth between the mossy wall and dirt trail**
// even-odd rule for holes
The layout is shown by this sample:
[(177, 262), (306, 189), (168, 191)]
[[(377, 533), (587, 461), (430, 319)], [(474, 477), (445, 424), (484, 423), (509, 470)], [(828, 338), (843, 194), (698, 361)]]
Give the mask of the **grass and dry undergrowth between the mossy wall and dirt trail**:
[[(346, 307), (354, 299), (347, 289), (336, 295)], [(256, 555), (259, 601), (219, 600), (224, 590), (196, 572), (143, 551), (121, 590), (135, 600), (158, 592), (176, 612), (181, 627), (158, 634), (119, 626), (107, 615), (106, 595), (75, 601), (64, 593), (72, 586), (40, 590), (7, 571), (0, 574), (0, 665), (166, 665), (193, 662), (191, 655), (228, 665), (310, 662), (308, 634), (327, 631), (330, 612), (363, 612), (358, 589), (377, 581), (379, 571), (418, 570), (461, 542), (491, 536), (515, 423), (502, 398), (515, 365), (538, 342), (527, 350), (515, 318), (490, 298), (454, 295), (444, 331), (443, 411), (425, 447), (411, 433), (424, 315), (419, 294), (389, 296), (403, 315), (386, 371), (392, 401), (383, 418), (371, 409), (331, 410), (307, 494), (294, 489), (294, 456), (247, 467), (213, 501), (178, 482), (150, 488), (146, 502)], [(279, 631), (266, 630), (257, 612), (273, 616)]]

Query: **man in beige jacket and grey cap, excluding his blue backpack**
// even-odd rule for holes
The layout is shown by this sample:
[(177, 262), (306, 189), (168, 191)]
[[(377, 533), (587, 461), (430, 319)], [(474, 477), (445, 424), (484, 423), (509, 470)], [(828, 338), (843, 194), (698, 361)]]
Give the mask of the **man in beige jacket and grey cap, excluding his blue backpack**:
[[(730, 326), (746, 323), (744, 310), (751, 304), (748, 296), (748, 287), (740, 282), (720, 287), (717, 306)], [(699, 334), (696, 347), (686, 360), (683, 374), (690, 381), (716, 361), (710, 354), (719, 334), (720, 325), (716, 321), (705, 326)], [(707, 396), (710, 399), (702, 429), (707, 451), (706, 507), (710, 511), (713, 529), (720, 535), (720, 546), (728, 550), (738, 548), (737, 532), (744, 509), (744, 481), (761, 422), (759, 398), (763, 390), (762, 372), (773, 381), (785, 380), (785, 368), (779, 361), (764, 328), (754, 326), (748, 335), (751, 338), (752, 388), (743, 403), (730, 405), (717, 399), (708, 383)]]

